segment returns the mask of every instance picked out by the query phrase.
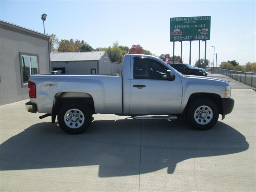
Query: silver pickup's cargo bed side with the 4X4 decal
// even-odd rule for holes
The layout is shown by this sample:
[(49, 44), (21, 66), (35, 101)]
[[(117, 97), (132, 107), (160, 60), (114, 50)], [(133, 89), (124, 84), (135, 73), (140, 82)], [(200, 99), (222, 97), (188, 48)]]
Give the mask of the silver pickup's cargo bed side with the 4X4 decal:
[(95, 113), (122, 113), (122, 76), (101, 74), (40, 74), (31, 75), (36, 84), (35, 99), (39, 113), (52, 113), (56, 97), (91, 97)]

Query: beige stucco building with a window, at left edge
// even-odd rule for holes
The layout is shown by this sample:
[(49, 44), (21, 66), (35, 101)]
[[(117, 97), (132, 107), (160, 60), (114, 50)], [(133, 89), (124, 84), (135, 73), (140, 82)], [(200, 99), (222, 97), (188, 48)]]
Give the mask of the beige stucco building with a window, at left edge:
[(28, 99), (28, 76), (50, 73), (49, 39), (0, 20), (0, 105)]

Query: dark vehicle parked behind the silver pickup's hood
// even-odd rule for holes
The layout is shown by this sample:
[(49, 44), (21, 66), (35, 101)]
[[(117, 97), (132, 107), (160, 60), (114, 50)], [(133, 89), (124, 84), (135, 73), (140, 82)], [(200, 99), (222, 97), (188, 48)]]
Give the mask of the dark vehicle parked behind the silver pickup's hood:
[(194, 68), (186, 63), (171, 64), (171, 67), (175, 68), (177, 71), (183, 75), (197, 75), (197, 76), (206, 76), (205, 70), (201, 68)]

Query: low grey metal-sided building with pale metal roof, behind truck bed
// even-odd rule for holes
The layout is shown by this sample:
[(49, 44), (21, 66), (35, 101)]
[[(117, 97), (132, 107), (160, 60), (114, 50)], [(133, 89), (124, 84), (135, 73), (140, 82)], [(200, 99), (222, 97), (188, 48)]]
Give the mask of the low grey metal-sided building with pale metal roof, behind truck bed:
[(52, 71), (70, 74), (113, 74), (120, 72), (120, 63), (113, 63), (105, 51), (51, 53)]

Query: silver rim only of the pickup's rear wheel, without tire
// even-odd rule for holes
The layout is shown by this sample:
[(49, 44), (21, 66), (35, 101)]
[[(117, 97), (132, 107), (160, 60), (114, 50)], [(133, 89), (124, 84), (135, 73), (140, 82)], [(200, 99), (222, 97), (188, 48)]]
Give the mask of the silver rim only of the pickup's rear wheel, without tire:
[(84, 123), (84, 114), (79, 109), (69, 109), (65, 113), (64, 122), (69, 128), (77, 129)]

